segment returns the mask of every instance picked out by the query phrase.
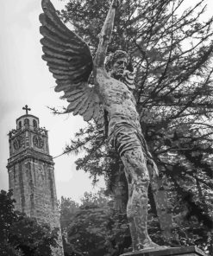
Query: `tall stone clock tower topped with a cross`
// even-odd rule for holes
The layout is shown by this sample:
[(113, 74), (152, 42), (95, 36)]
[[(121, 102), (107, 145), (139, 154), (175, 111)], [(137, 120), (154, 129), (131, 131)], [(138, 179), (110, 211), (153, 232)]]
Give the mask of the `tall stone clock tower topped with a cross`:
[[(9, 189), (13, 189), (16, 210), (50, 227), (60, 228), (60, 214), (54, 181), (53, 157), (49, 155), (48, 134), (39, 118), (28, 114), (16, 119), (16, 129), (9, 131)], [(53, 255), (64, 255), (61, 233), (59, 248)]]

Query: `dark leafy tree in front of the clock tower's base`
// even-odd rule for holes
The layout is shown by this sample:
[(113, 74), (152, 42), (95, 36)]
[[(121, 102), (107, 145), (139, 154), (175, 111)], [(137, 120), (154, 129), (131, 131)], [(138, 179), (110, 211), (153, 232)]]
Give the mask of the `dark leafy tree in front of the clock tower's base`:
[(50, 256), (57, 246), (58, 230), (15, 211), (12, 191), (0, 194), (0, 252), (11, 256)]

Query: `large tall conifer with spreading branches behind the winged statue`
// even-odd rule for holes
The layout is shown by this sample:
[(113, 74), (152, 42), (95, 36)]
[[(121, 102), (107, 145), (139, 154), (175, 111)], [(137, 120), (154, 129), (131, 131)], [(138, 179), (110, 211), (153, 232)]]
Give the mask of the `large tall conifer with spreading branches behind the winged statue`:
[[(64, 21), (71, 22), (78, 35), (91, 45), (93, 52), (109, 2), (75, 0), (67, 3), (60, 13)], [(179, 216), (182, 221), (174, 218), (171, 223), (174, 227), (179, 222), (186, 223), (188, 218), (185, 234), (179, 228), (174, 231), (182, 244), (192, 241), (200, 245), (191, 227), (197, 220), (197, 226), (202, 229), (198, 237), (205, 237), (208, 243), (212, 225), (213, 67), (210, 61), (213, 18), (201, 21), (204, 0), (179, 12), (183, 3), (184, 0), (123, 0), (116, 14), (109, 52), (117, 48), (128, 51), (136, 67), (135, 99), (141, 129), (159, 167), (160, 177), (168, 184), (166, 193), (170, 195), (170, 206), (162, 198), (150, 201), (153, 211), (155, 208), (159, 217), (160, 208), (167, 214), (172, 212)], [(100, 127), (90, 124), (79, 131), (66, 152), (82, 149), (85, 157), (78, 159), (78, 169), (90, 172), (94, 181), (98, 175), (103, 175), (109, 188), (112, 187), (119, 160), (116, 152), (104, 143)], [(158, 185), (157, 189), (162, 191), (165, 182), (155, 182), (160, 183), (162, 186)], [(163, 203), (158, 211), (156, 206), (160, 200)], [(196, 209), (195, 214), (191, 214), (191, 209)], [(160, 218), (160, 221), (163, 229), (165, 220)], [(191, 234), (195, 234), (193, 238)]]

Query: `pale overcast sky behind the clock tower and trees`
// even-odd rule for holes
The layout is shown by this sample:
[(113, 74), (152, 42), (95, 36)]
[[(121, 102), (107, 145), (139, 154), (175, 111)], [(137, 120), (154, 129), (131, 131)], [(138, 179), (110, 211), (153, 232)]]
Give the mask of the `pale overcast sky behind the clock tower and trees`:
[[(68, 0), (52, 0), (56, 9), (63, 8)], [(185, 7), (197, 2), (185, 0)], [(210, 16), (213, 1), (208, 4), (206, 16)], [(185, 8), (184, 7), (184, 8)], [(41, 127), (49, 131), (50, 155), (60, 155), (70, 138), (79, 128), (85, 127), (81, 117), (54, 116), (47, 106), (66, 104), (55, 93), (55, 82), (45, 61), (41, 60), (41, 35), (39, 14), (41, 0), (7, 0), (0, 4), (0, 189), (7, 190), (9, 141), (7, 134), (16, 128), (16, 118), (25, 112), (22, 106), (31, 108), (31, 114), (40, 118)], [(58, 198), (71, 197), (79, 201), (85, 191), (95, 192), (104, 186), (101, 180), (96, 188), (83, 170), (76, 170), (76, 156), (54, 159), (55, 181)]]

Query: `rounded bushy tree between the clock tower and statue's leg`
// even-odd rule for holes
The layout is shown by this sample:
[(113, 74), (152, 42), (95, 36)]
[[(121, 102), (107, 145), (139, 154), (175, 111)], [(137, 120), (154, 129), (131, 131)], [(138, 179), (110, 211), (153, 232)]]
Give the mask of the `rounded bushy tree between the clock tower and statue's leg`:
[[(72, 208), (73, 201), (61, 204), (61, 220), (67, 214), (64, 208)], [(70, 206), (68, 207), (68, 202)], [(128, 222), (113, 208), (114, 202), (103, 189), (96, 194), (85, 193), (75, 214), (66, 219), (62, 228), (65, 255), (120, 255), (130, 245)], [(62, 222), (63, 223), (63, 222)]]

